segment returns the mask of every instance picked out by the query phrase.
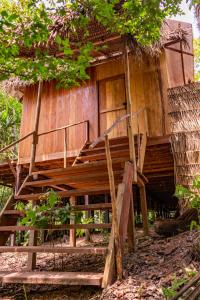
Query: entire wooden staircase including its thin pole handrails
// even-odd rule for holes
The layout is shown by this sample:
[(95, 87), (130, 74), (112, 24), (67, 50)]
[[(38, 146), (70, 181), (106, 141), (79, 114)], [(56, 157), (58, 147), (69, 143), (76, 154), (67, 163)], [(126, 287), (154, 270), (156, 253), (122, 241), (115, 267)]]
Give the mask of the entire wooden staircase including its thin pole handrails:
[[(26, 252), (28, 253), (27, 272), (1, 272), (2, 283), (30, 283), (30, 284), (66, 284), (66, 285), (97, 285), (106, 287), (116, 277), (123, 277), (123, 253), (125, 241), (128, 237), (128, 248), (133, 251), (135, 247), (134, 212), (132, 184), (138, 184), (143, 190), (142, 210), (147, 216), (145, 190), (143, 183), (143, 164), (146, 149), (146, 135), (133, 135), (129, 130), (128, 137), (108, 139), (108, 134), (119, 122), (130, 119), (130, 114), (116, 120), (105, 133), (93, 144), (87, 139), (80, 153), (75, 158), (66, 157), (66, 147), (62, 165), (52, 167), (46, 165), (38, 167), (35, 163), (36, 141), (41, 134), (33, 138), (32, 155), (29, 171), (23, 178), (17, 178), (15, 195), (6, 203), (0, 215), (0, 252)], [(69, 126), (74, 126), (72, 124)], [(88, 128), (88, 121), (86, 122)], [(129, 120), (130, 125), (130, 120)], [(66, 126), (66, 127), (69, 127)], [(66, 130), (66, 127), (56, 130)], [(130, 127), (130, 126), (129, 126)], [(129, 128), (130, 129), (130, 128)], [(53, 131), (56, 131), (53, 130)], [(50, 131), (52, 132), (52, 130)], [(47, 134), (47, 133), (42, 133)], [(30, 134), (29, 134), (30, 135)], [(26, 137), (25, 137), (26, 138)], [(23, 138), (24, 139), (24, 138)], [(21, 139), (22, 140), (22, 139)], [(13, 144), (12, 144), (13, 145)], [(65, 145), (66, 146), (66, 145)], [(8, 149), (8, 147), (4, 148)], [(131, 162), (130, 162), (131, 160)], [(35, 234), (41, 228), (18, 225), (21, 212), (15, 210), (15, 203), (22, 201), (28, 203), (42, 202), (44, 196), (53, 189), (64, 201), (72, 204), (73, 213), (78, 211), (111, 210), (112, 223), (100, 224), (59, 224), (51, 225), (42, 230), (70, 230), (74, 235), (76, 229), (111, 228), (108, 247), (52, 247), (38, 246)], [(111, 203), (97, 203), (89, 205), (76, 205), (75, 199), (79, 196), (110, 194)], [(73, 201), (72, 201), (73, 199)], [(147, 224), (147, 222), (146, 222)], [(17, 231), (30, 231), (29, 246), (10, 247), (6, 241), (10, 234)], [(148, 228), (146, 226), (146, 233)], [(36, 253), (85, 253), (90, 255), (100, 254), (105, 256), (103, 273), (88, 272), (38, 272), (33, 271)]]

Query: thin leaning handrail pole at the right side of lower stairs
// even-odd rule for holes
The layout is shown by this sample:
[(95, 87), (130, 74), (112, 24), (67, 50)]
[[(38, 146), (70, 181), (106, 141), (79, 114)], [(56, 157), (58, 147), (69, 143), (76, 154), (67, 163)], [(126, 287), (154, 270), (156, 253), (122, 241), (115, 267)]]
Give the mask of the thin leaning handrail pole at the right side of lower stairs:
[(116, 200), (115, 192), (115, 180), (114, 173), (112, 168), (112, 158), (110, 153), (109, 139), (108, 136), (105, 136), (105, 150), (106, 150), (106, 160), (110, 184), (110, 195), (112, 200), (112, 219), (113, 219), (113, 231), (115, 239), (115, 248), (116, 248), (116, 268), (118, 279), (123, 277), (123, 267), (122, 267), (122, 247), (120, 242), (120, 233), (119, 233), (119, 222), (118, 222), (118, 207)]

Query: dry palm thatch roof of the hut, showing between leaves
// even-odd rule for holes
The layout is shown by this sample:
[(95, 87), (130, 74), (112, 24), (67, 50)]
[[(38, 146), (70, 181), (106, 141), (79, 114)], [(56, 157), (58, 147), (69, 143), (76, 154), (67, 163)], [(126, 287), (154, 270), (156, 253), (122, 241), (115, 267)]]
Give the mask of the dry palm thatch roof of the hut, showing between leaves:
[[(184, 24), (184, 25), (183, 25)], [(82, 32), (79, 31), (76, 35), (70, 35), (70, 43), (72, 49), (75, 47), (77, 41), (91, 42), (98, 46), (97, 51), (93, 51), (93, 64), (98, 64), (104, 59), (115, 59), (119, 55), (123, 54), (124, 42), (129, 45), (129, 49), (134, 53), (136, 59), (142, 59), (143, 55), (146, 57), (159, 56), (165, 46), (172, 45), (173, 43), (183, 42), (185, 46), (188, 45), (188, 36), (191, 34), (190, 24), (180, 23), (174, 20), (166, 20), (161, 29), (160, 40), (150, 46), (142, 46), (138, 44), (132, 36), (119, 36), (119, 34), (110, 32), (104, 26), (96, 21), (92, 21), (89, 24), (89, 35), (87, 38), (83, 38)], [(55, 37), (59, 35), (64, 38), (69, 34), (69, 18), (67, 16), (59, 16), (54, 18), (53, 25), (50, 26), (50, 36), (46, 44), (36, 44), (31, 49), (21, 47), (21, 55), (23, 57), (33, 57), (35, 49), (41, 51), (48, 49), (51, 55), (62, 57), (62, 53), (59, 52), (58, 45), (55, 43)], [(106, 47), (99, 47), (100, 45)], [(76, 51), (76, 49), (74, 49)], [(23, 81), (19, 78), (11, 78), (4, 81), (1, 84), (1, 88), (8, 94), (17, 98), (22, 97), (22, 92), (26, 86), (33, 84), (31, 81)]]

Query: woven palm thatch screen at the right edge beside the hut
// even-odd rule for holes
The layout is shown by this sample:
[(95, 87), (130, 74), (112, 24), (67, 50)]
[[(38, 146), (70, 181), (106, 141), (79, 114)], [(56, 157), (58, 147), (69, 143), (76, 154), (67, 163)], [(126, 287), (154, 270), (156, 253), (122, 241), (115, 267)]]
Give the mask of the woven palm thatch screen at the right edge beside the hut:
[(168, 90), (176, 183), (191, 188), (200, 175), (200, 82)]

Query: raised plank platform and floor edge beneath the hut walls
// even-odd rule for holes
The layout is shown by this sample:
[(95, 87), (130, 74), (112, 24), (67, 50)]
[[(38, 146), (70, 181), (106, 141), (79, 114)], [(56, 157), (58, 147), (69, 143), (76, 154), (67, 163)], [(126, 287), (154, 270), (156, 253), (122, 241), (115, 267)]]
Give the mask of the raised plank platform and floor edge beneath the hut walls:
[[(135, 139), (135, 147), (137, 155), (137, 139)], [(124, 163), (129, 159), (128, 137), (111, 139), (110, 150), (115, 181), (118, 184), (122, 179)], [(71, 167), (75, 160), (75, 166)], [(13, 173), (15, 166), (16, 162), (0, 164), (2, 184), (15, 185)], [(27, 174), (28, 164), (24, 164), (21, 169), (21, 182)], [(63, 159), (36, 162), (36, 171), (33, 174), (37, 180), (31, 180), (25, 184), (25, 190), (29, 194), (55, 186), (61, 194), (66, 196), (70, 196), (69, 190), (72, 191), (72, 189), (77, 190), (72, 192), (76, 196), (83, 193), (83, 190), (88, 195), (106, 193), (109, 189), (109, 182), (104, 142), (100, 142), (94, 149), (90, 149), (88, 144), (80, 151), (78, 158), (67, 158), (66, 169), (63, 168)], [(174, 162), (169, 136), (147, 138), (143, 174), (148, 179), (147, 190), (151, 197), (171, 201), (175, 186)], [(67, 190), (66, 194), (65, 190)]]

